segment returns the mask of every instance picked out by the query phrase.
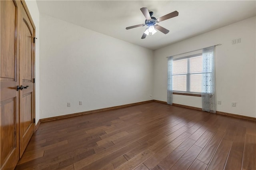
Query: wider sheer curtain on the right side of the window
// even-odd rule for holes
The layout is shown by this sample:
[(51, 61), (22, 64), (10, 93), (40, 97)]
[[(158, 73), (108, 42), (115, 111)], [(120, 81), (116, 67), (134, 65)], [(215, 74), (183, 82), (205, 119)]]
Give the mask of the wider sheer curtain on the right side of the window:
[(215, 46), (203, 49), (202, 110), (216, 113)]

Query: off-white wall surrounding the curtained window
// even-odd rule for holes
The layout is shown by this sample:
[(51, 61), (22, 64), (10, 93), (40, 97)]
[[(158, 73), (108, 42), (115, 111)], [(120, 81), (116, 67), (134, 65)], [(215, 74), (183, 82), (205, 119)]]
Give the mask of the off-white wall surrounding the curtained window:
[[(167, 58), (216, 46), (217, 111), (256, 117), (256, 18), (219, 28), (154, 51), (154, 99), (167, 100)], [(241, 38), (241, 43), (231, 41)], [(236, 102), (236, 107), (231, 103)], [(173, 103), (200, 107), (201, 97), (174, 95)]]

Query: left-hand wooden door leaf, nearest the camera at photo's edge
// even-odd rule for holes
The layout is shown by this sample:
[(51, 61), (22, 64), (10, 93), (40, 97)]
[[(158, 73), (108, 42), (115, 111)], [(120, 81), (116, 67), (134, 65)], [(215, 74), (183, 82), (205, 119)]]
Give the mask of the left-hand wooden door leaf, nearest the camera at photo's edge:
[(18, 2), (0, 1), (1, 170), (14, 169), (19, 160), (19, 8)]

